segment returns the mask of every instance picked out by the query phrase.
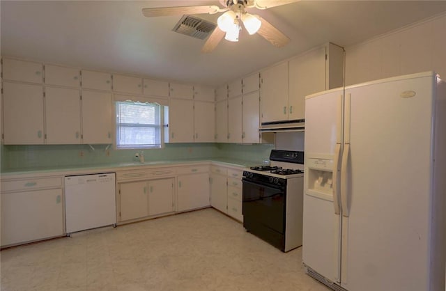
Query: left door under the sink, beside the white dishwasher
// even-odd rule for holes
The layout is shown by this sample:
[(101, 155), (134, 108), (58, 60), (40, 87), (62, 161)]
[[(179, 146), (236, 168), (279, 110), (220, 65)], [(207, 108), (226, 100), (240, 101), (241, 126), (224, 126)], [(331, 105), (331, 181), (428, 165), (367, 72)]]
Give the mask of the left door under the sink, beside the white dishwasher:
[(148, 216), (147, 182), (119, 184), (121, 200), (121, 221)]

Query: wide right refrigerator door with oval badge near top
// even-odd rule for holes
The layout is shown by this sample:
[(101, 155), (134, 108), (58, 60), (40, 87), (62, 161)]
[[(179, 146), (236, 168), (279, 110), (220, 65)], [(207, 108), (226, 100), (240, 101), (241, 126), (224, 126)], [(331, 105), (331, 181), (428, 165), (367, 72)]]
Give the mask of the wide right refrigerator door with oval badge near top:
[(350, 108), (344, 116), (341, 186), (346, 290), (431, 290), (433, 86), (433, 77), (425, 76), (346, 88)]

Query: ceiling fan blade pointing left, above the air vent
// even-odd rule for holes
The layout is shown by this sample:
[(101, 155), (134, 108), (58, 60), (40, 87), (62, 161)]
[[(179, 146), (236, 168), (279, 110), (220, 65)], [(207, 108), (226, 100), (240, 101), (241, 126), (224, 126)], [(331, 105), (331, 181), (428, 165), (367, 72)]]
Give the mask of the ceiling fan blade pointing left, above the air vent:
[(142, 14), (145, 17), (156, 16), (171, 16), (171, 15), (184, 15), (184, 14), (215, 14), (227, 9), (220, 9), (215, 5), (208, 6), (176, 6), (176, 7), (157, 7), (157, 8), (143, 8)]

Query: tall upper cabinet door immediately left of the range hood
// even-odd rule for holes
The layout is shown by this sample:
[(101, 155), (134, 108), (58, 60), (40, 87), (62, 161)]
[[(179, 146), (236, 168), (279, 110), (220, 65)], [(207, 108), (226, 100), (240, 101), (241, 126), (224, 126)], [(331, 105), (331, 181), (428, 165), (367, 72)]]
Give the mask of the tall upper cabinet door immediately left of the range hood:
[(259, 143), (260, 125), (260, 100), (259, 91), (243, 94), (243, 143)]

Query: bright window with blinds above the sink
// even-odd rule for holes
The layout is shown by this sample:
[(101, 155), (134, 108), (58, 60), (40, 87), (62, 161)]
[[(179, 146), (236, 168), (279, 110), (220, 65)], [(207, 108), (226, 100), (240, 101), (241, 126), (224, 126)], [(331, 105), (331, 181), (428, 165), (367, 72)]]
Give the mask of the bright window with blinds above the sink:
[(160, 105), (116, 102), (116, 148), (161, 148)]

